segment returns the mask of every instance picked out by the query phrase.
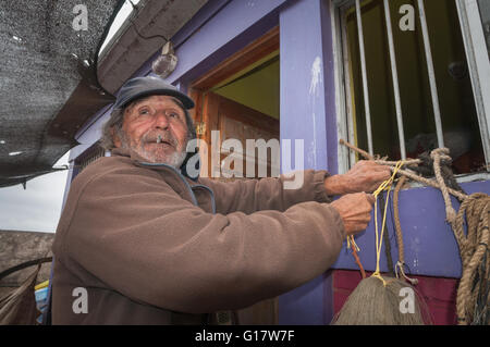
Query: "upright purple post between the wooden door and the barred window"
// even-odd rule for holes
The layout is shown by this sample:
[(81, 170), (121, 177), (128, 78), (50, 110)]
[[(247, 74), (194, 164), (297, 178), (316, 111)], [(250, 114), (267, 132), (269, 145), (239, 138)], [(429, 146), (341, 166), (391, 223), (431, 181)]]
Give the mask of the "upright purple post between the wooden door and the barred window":
[[(336, 153), (330, 33), (327, 1), (294, 1), (282, 9), (280, 126), (281, 140), (304, 139), (305, 169), (335, 172), (336, 160), (328, 160), (329, 152)], [(331, 277), (322, 275), (280, 297), (279, 322), (326, 324), (332, 300)]]

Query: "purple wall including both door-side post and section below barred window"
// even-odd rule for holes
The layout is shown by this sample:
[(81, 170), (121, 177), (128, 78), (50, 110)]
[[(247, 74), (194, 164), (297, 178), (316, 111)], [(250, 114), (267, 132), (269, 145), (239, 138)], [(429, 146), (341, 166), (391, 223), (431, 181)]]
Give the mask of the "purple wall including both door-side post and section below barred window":
[[(305, 139), (305, 169), (327, 169), (336, 173), (338, 117), (331, 16), (327, 1), (290, 2), (280, 13), (280, 34), (281, 139)], [(316, 64), (318, 59), (320, 64)], [(462, 186), (468, 194), (490, 194), (488, 182), (465, 183)], [(457, 210), (458, 203), (454, 198), (453, 205)], [(444, 221), (441, 193), (429, 187), (402, 190), (400, 209), (408, 272), (460, 277), (458, 248), (451, 227)], [(396, 262), (397, 245), (392, 218), (388, 219), (387, 227), (392, 259)], [(359, 258), (366, 270), (375, 270), (373, 219), (367, 231), (356, 238), (356, 243), (362, 249)], [(352, 255), (346, 251), (345, 244), (332, 268), (358, 269)], [(384, 248), (381, 270), (387, 270)], [(332, 290), (331, 272), (327, 272), (283, 295), (279, 306), (280, 323), (328, 324), (333, 312)]]

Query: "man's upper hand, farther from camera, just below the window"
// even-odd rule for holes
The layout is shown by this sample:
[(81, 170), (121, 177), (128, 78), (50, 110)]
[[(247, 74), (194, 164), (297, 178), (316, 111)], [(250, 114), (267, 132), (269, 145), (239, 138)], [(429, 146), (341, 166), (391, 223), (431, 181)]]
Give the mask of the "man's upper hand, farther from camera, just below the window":
[(324, 188), (328, 195), (372, 193), (390, 176), (389, 166), (377, 164), (373, 161), (360, 160), (347, 173), (327, 177)]

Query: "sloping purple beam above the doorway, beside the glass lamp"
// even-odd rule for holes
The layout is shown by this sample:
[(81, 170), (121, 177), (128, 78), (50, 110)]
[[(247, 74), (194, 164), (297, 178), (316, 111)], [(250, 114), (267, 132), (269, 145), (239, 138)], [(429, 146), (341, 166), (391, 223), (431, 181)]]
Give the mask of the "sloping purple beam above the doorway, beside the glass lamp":
[[(175, 40), (179, 64), (167, 80), (172, 84), (179, 82), (185, 88), (191, 82), (278, 25), (279, 8), (284, 2), (286, 1), (208, 2), (172, 38)], [(191, 34), (191, 37), (185, 37)], [(146, 62), (138, 73), (148, 74), (152, 60)]]

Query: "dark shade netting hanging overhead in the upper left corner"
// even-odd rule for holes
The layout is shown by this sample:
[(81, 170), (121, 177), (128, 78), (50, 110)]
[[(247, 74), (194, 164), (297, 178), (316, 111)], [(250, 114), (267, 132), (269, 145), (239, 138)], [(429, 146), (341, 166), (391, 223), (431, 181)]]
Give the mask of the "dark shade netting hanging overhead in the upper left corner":
[(123, 2), (0, 1), (0, 187), (52, 171), (113, 99), (95, 77), (96, 60)]

